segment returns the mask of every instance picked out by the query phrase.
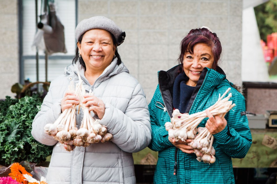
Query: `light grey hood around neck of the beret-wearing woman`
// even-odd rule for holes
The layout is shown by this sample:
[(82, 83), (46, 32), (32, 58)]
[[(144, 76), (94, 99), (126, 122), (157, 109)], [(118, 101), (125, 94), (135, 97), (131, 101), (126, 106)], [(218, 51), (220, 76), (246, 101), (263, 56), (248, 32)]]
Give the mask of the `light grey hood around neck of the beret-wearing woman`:
[[(78, 72), (82, 78), (82, 80), (87, 83), (89, 82), (85, 78), (85, 68), (80, 64), (80, 62), (77, 62), (76, 64), (70, 64), (67, 66), (64, 70), (64, 75), (69, 75), (70, 77), (76, 78), (78, 75)], [(97, 87), (101, 82), (107, 80), (113, 75), (119, 74), (121, 72), (127, 72), (129, 73), (129, 70), (127, 67), (121, 62), (121, 64), (117, 65), (117, 58), (115, 58), (111, 64), (105, 68), (103, 73), (96, 79), (95, 83), (93, 84), (94, 87)], [(77, 76), (78, 77), (78, 76)]]

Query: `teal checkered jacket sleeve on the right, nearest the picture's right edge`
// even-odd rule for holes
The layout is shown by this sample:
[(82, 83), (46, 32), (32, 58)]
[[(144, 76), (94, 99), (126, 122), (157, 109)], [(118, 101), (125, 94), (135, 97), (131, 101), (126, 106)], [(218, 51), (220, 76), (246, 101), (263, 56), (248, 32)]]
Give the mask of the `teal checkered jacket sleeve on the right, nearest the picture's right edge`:
[(214, 135), (218, 147), (232, 158), (244, 158), (252, 144), (252, 136), (248, 127), (245, 111), (245, 100), (238, 91), (232, 91), (230, 100), (235, 103), (225, 116), (227, 126)]

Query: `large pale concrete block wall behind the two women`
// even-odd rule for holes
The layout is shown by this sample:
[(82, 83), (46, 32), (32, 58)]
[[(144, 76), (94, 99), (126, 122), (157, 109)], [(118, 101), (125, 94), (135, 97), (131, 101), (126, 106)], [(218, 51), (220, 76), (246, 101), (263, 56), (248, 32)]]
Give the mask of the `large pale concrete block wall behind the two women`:
[(118, 51), (148, 102), (157, 72), (177, 64), (181, 40), (201, 26), (218, 34), (223, 47), (220, 66), (229, 81), (242, 82), (242, 0), (78, 0), (78, 22), (91, 16), (106, 16), (126, 32)]

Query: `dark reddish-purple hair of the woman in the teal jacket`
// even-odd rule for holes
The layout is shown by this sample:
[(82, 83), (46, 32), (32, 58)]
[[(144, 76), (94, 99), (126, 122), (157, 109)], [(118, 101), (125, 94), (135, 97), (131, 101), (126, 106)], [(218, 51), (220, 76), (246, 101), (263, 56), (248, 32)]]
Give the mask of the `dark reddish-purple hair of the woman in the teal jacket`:
[(192, 29), (181, 41), (181, 53), (178, 58), (179, 64), (183, 64), (184, 55), (186, 52), (193, 54), (193, 48), (198, 43), (204, 43), (212, 48), (212, 53), (214, 55), (214, 63), (212, 68), (216, 69), (218, 60), (220, 59), (222, 47), (216, 33), (212, 33), (207, 28)]

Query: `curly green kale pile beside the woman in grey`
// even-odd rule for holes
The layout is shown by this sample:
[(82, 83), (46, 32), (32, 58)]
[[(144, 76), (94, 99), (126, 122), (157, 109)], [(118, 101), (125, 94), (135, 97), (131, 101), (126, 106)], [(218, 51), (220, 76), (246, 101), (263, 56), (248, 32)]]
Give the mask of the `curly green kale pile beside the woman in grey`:
[(41, 98), (25, 96), (16, 103), (16, 99), (6, 97), (1, 103), (6, 109), (1, 108), (0, 112), (0, 165), (20, 161), (38, 164), (45, 161), (53, 147), (38, 143), (31, 135), (32, 122), (41, 106)]

